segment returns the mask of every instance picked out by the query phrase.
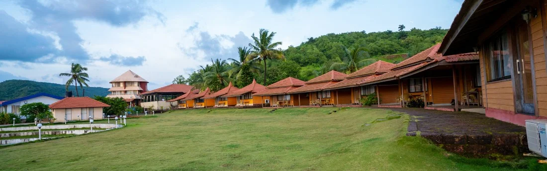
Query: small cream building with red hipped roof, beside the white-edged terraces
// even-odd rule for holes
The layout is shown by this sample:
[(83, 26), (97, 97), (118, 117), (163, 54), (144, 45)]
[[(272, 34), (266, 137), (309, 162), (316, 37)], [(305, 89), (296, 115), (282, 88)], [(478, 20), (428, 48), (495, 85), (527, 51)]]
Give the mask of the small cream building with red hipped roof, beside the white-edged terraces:
[(106, 107), (110, 105), (89, 97), (67, 97), (49, 105), (56, 121), (102, 119)]

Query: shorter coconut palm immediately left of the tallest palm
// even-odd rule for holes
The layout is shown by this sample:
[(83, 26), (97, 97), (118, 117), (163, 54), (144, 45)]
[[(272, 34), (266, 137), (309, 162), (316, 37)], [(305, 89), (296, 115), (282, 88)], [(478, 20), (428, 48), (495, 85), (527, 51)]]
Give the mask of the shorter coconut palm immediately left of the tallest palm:
[[(257, 63), (257, 60), (247, 60), (247, 56), (251, 54), (251, 49), (248, 49), (247, 47), (239, 47), (237, 48), (237, 53), (239, 56), (239, 60), (235, 60), (234, 58), (228, 58), (228, 61), (231, 62), (232, 69), (230, 70), (230, 77), (235, 79), (240, 79), (241, 74), (243, 73), (243, 70), (241, 68), (245, 65), (249, 66), (249, 70), (252, 73), (259, 73), (260, 66), (259, 63)], [(232, 76), (236, 74), (235, 76)]]

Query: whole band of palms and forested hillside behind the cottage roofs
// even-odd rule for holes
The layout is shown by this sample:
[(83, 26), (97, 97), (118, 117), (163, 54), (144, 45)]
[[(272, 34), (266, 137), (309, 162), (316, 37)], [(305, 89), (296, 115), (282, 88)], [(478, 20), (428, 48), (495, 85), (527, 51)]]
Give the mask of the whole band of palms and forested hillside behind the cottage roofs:
[(330, 70), (352, 73), (377, 60), (401, 62), (405, 57), (441, 42), (447, 32), (440, 27), (404, 29), (404, 25), (399, 25), (395, 32), (329, 33), (310, 37), (286, 50), (278, 48), (282, 42), (274, 41), (276, 32), (260, 29), (257, 36), (252, 34), (253, 42), (238, 48), (237, 58), (211, 59), (210, 64), (200, 66), (188, 78), (179, 75), (172, 83), (218, 91), (229, 82), (241, 88), (251, 84), (253, 79), (267, 86), (289, 76), (307, 81)]

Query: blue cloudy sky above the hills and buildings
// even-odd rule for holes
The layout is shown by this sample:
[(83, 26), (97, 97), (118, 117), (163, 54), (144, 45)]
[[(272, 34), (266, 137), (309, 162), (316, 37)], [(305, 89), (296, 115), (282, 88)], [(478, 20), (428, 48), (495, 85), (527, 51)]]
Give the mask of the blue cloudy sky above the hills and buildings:
[(0, 81), (65, 84), (71, 63), (90, 86), (127, 70), (149, 89), (216, 58), (237, 58), (260, 28), (282, 49), (354, 31), (449, 28), (461, 0), (0, 1)]

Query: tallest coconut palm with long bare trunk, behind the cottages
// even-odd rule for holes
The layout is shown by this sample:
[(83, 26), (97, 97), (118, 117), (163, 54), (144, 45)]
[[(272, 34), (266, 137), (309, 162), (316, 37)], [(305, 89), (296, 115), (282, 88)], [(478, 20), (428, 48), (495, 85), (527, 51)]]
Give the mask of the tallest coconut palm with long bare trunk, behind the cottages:
[(248, 60), (259, 60), (264, 62), (264, 81), (263, 84), (266, 85), (266, 61), (272, 59), (284, 59), (285, 56), (280, 49), (276, 49), (277, 46), (281, 45), (281, 42), (274, 42), (275, 32), (269, 32), (264, 28), (261, 28), (258, 32), (258, 37), (253, 35), (254, 44), (249, 43), (251, 46), (251, 54), (248, 55)]

